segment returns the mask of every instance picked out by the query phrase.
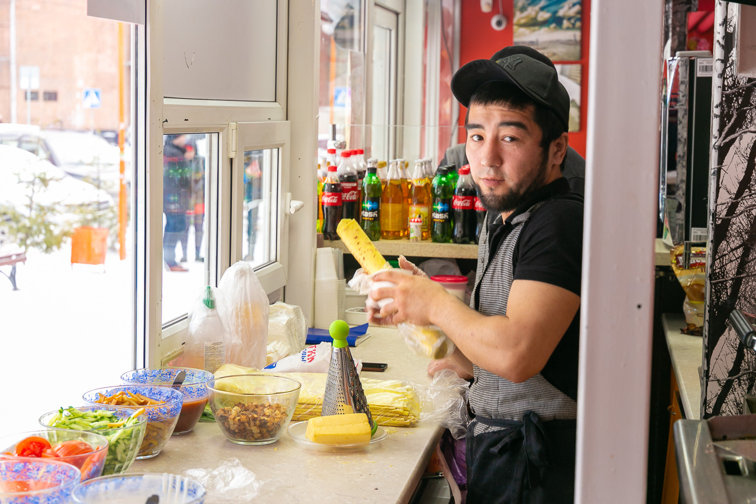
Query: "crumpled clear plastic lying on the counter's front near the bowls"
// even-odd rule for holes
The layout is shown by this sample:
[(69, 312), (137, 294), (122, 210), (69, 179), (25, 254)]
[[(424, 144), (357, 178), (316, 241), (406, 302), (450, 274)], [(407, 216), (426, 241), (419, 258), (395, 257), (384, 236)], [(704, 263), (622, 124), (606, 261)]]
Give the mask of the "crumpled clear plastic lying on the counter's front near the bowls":
[(214, 469), (187, 469), (183, 474), (205, 487), (205, 504), (243, 504), (254, 499), (262, 486), (255, 473), (235, 457), (218, 462)]

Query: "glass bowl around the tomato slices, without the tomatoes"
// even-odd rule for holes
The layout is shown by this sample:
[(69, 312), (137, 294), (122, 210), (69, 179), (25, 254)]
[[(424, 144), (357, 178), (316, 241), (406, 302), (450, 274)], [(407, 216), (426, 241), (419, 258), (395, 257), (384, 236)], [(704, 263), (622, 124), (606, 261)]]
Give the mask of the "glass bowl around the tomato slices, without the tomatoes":
[(107, 439), (100, 434), (94, 434), (92, 432), (80, 432), (80, 431), (33, 431), (33, 432), (20, 432), (19, 434), (11, 434), (0, 438), (0, 459), (36, 459), (38, 457), (20, 457), (15, 455), (8, 455), (7, 453), (15, 453), (16, 444), (23, 439), (29, 438), (29, 436), (36, 436), (38, 438), (44, 438), (50, 442), (52, 447), (57, 444), (65, 443), (67, 441), (84, 441), (91, 446), (94, 450), (89, 453), (81, 453), (79, 455), (67, 455), (55, 457), (55, 460), (60, 462), (67, 462), (70, 465), (75, 465), (82, 472), (82, 481), (90, 478), (97, 478), (102, 475), (102, 469), (105, 465), (105, 456), (107, 455)]

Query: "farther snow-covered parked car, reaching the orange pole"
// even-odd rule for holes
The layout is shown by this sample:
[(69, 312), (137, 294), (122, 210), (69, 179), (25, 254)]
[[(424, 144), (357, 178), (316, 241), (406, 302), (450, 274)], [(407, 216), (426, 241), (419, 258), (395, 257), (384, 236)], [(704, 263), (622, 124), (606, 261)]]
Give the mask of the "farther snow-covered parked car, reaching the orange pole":
[[(48, 160), (72, 177), (101, 187), (110, 194), (118, 193), (118, 147), (91, 131), (5, 125), (0, 128), (0, 145), (27, 150), (39, 159)], [(131, 169), (126, 169), (127, 183), (130, 174)]]

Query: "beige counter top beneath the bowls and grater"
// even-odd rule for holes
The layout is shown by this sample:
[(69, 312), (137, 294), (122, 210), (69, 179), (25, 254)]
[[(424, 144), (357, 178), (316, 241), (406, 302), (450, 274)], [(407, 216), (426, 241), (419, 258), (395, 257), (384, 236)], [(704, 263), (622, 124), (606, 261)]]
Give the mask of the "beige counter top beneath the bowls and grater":
[[(370, 327), (370, 332), (369, 339), (351, 348), (352, 354), (389, 367), (363, 376), (429, 384), (428, 360), (414, 355), (395, 329)], [(442, 433), (436, 425), (421, 423), (397, 428), (368, 450), (339, 454), (302, 449), (287, 433), (273, 444), (241, 446), (226, 441), (215, 423), (200, 423), (190, 433), (172, 437), (154, 459), (136, 461), (131, 471), (180, 474), (236, 457), (263, 482), (256, 502), (407, 502)]]

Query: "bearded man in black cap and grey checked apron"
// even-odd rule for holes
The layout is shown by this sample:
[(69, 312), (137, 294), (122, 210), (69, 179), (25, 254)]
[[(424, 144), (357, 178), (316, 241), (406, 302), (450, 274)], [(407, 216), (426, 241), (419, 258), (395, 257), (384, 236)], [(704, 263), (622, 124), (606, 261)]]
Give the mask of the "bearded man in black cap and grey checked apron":
[[(379, 323), (435, 324), (469, 391), (467, 502), (573, 502), (583, 199), (562, 176), (569, 96), (527, 54), (475, 60), (451, 81), (488, 210), (469, 307), (420, 275), (375, 280)], [(404, 264), (411, 267), (411, 264)]]

